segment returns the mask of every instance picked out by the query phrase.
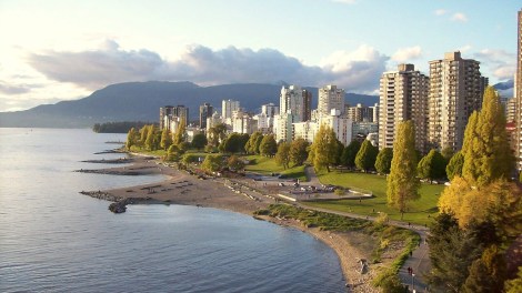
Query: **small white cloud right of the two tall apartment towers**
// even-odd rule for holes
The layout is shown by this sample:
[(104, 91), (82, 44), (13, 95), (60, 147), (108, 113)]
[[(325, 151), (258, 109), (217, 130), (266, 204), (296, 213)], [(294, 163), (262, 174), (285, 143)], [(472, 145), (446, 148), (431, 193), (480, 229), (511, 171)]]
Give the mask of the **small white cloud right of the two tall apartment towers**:
[(499, 80), (512, 79), (516, 72), (516, 55), (504, 50), (484, 49), (474, 54), (481, 67), (488, 68)]

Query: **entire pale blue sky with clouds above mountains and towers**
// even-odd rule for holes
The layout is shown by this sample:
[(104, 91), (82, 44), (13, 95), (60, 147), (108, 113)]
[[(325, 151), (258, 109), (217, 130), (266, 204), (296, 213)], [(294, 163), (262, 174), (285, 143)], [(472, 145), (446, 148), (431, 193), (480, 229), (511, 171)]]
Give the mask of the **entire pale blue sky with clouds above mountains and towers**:
[(337, 84), (461, 51), (516, 71), (520, 0), (0, 0), (0, 112), (130, 81)]

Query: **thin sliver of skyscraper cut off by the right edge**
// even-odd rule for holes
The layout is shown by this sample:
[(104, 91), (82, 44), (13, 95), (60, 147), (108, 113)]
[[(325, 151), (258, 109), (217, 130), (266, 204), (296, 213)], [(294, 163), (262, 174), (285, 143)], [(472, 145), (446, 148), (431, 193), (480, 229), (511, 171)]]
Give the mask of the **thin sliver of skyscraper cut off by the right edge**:
[(515, 78), (515, 99), (516, 99), (516, 159), (519, 170), (522, 170), (522, 10), (519, 11), (519, 42), (516, 51), (516, 78)]

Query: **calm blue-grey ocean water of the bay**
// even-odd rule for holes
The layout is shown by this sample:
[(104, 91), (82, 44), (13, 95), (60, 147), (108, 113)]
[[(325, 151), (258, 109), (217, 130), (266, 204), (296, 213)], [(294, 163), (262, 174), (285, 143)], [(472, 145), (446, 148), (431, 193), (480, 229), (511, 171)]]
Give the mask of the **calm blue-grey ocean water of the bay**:
[(300, 231), (182, 205), (79, 194), (160, 175), (72, 172), (124, 141), (90, 130), (0, 128), (0, 292), (343, 292), (335, 253)]

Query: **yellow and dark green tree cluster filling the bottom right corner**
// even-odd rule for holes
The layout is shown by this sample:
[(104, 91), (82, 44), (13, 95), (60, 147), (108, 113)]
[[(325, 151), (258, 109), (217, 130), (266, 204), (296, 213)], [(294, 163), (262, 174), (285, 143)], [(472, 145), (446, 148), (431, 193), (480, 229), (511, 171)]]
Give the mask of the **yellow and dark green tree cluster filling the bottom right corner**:
[(516, 244), (522, 192), (509, 181), (513, 162), (502, 105), (488, 88), (482, 110), (469, 119), (462, 150), (446, 168), (451, 185), (441, 194), (441, 213), (429, 238), (432, 286), (446, 292), (522, 292)]

